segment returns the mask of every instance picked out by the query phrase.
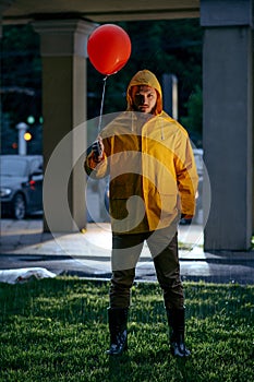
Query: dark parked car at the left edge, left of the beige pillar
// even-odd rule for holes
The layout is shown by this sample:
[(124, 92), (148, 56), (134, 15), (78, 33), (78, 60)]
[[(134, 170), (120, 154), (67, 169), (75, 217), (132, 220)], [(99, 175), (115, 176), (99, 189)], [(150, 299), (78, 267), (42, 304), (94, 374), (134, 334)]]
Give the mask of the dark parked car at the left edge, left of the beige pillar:
[(1, 155), (1, 213), (16, 219), (43, 211), (43, 156)]

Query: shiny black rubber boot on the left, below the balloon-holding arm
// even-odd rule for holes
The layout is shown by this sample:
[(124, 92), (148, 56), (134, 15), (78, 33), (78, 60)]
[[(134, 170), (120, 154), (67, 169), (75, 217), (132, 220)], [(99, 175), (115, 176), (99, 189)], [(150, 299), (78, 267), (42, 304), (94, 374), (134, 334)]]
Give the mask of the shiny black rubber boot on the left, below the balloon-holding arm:
[(119, 356), (128, 348), (128, 308), (109, 308), (110, 348), (106, 353)]

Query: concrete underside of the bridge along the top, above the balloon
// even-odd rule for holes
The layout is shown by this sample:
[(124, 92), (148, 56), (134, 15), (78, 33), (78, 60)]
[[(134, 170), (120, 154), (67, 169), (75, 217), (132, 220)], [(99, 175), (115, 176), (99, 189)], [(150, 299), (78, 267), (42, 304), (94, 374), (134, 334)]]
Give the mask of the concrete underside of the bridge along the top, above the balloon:
[(69, 14), (93, 22), (105, 23), (112, 21), (138, 21), (138, 20), (170, 20), (189, 19), (199, 16), (198, 0), (19, 0), (2, 1), (7, 9), (3, 13), (5, 22), (31, 22), (35, 19), (50, 19), (56, 14)]

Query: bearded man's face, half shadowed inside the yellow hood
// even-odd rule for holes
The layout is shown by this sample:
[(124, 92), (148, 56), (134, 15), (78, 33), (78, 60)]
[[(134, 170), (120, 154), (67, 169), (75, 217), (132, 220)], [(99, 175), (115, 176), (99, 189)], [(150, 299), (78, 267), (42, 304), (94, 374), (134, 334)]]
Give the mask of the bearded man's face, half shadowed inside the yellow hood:
[(157, 102), (157, 93), (154, 87), (147, 85), (133, 86), (131, 96), (136, 111), (145, 114), (154, 112)]

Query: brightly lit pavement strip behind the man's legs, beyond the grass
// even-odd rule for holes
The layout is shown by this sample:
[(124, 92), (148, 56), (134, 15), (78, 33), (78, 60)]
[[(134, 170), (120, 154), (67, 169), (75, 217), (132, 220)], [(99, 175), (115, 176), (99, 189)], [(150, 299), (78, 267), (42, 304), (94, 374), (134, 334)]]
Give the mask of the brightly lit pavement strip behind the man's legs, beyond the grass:
[[(201, 226), (179, 227), (183, 280), (254, 284), (254, 252), (204, 253)], [(45, 267), (56, 274), (109, 278), (111, 230), (108, 223), (88, 224), (75, 234), (43, 232), (41, 218), (1, 220), (0, 270)], [(156, 280), (144, 246), (136, 279)]]

